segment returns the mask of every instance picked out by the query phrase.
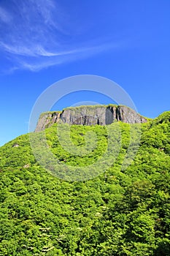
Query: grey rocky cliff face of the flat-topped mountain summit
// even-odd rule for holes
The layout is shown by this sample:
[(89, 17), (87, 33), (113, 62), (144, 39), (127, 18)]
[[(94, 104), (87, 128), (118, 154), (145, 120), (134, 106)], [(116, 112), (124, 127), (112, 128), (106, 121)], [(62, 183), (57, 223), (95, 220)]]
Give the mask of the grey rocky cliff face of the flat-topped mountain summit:
[(146, 118), (140, 116), (135, 110), (126, 106), (117, 105), (93, 105), (66, 108), (62, 112), (42, 113), (36, 125), (35, 132), (50, 127), (59, 120), (66, 124), (80, 125), (106, 125), (113, 121), (123, 121), (128, 124), (144, 123)]

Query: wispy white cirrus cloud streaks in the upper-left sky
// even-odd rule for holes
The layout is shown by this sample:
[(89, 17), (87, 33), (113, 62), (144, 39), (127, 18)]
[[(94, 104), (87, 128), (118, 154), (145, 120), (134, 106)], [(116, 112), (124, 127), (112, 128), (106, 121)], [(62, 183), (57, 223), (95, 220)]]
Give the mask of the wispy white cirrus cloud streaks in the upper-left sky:
[(0, 51), (13, 65), (10, 70), (37, 71), (117, 47), (74, 38), (70, 17), (57, 1), (9, 2), (0, 6)]

